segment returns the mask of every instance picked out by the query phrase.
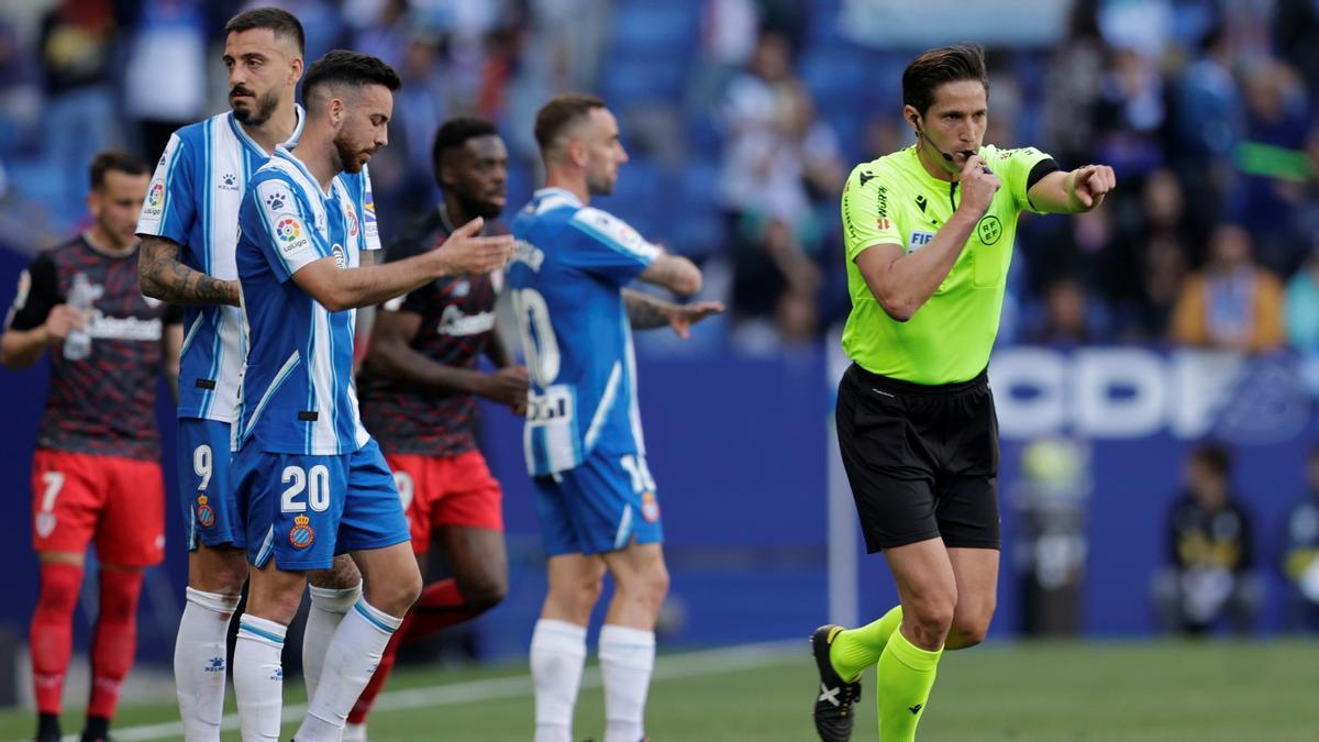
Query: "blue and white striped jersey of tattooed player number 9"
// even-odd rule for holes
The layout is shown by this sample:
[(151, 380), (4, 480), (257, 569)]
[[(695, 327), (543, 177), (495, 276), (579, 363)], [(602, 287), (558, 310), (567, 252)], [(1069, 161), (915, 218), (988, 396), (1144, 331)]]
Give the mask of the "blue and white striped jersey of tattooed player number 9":
[[(302, 135), (305, 112), (285, 147)], [(179, 244), (179, 260), (222, 280), (237, 279), (233, 248), (239, 236), (239, 203), (248, 182), (265, 165), (265, 151), (243, 131), (232, 112), (183, 127), (170, 137), (152, 176), (137, 232)], [(365, 170), (364, 170), (365, 173)], [(375, 236), (371, 180), (355, 186), (364, 202), (367, 239)], [(243, 310), (237, 306), (187, 306), (183, 314), (179, 368), (179, 417), (230, 422), (237, 403), (239, 372), (247, 355)]]

